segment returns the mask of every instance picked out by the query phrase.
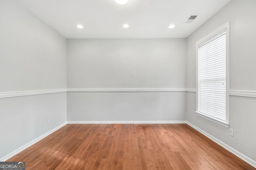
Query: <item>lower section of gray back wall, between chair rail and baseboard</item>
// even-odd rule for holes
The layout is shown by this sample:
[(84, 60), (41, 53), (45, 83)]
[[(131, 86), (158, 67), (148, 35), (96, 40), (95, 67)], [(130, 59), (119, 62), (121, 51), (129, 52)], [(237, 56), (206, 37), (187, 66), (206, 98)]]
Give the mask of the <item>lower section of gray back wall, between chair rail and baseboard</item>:
[(186, 92), (68, 92), (68, 121), (184, 121)]

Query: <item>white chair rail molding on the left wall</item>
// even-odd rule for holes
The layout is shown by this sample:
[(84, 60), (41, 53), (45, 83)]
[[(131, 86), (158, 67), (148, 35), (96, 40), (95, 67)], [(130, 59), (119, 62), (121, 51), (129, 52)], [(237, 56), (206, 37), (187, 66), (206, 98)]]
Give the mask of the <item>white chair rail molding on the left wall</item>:
[(66, 91), (67, 91), (66, 89), (52, 89), (52, 90), (1, 92), (0, 98), (11, 98), (11, 97), (18, 97), (18, 96), (31, 96), (31, 95), (38, 95), (38, 94), (50, 94), (50, 93), (62, 93)]

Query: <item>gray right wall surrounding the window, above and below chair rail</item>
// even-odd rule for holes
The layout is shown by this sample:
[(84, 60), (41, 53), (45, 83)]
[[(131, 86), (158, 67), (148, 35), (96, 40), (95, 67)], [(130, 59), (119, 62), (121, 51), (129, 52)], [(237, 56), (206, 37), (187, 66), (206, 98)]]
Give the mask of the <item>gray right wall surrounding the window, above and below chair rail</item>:
[[(256, 1), (232, 0), (187, 38), (187, 88), (196, 88), (196, 41), (230, 21), (230, 90), (256, 91)], [(230, 96), (229, 129), (199, 117), (196, 93), (187, 93), (187, 121), (256, 160), (256, 98)]]

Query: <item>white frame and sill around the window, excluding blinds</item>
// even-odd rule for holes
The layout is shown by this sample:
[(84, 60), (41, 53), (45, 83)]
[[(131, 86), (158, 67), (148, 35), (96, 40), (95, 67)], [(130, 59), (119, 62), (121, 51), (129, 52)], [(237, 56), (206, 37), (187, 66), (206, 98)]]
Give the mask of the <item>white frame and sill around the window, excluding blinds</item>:
[[(216, 30), (212, 31), (202, 39), (196, 42), (196, 113), (200, 117), (204, 117), (210, 121), (218, 123), (224, 127), (229, 127), (230, 123), (230, 109), (229, 109), (229, 90), (230, 90), (230, 23), (227, 22), (224, 25), (218, 27)], [(217, 35), (220, 35), (221, 31), (226, 28), (226, 121), (220, 121), (208, 115), (202, 114), (198, 111), (198, 49), (200, 45), (210, 41)]]

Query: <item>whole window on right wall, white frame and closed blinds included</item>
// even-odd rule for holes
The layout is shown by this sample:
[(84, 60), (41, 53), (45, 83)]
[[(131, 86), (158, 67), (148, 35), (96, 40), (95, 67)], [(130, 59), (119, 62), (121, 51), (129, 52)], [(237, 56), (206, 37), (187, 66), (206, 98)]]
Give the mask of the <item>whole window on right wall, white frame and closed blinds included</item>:
[(229, 126), (229, 23), (200, 39), (197, 48), (196, 113)]

